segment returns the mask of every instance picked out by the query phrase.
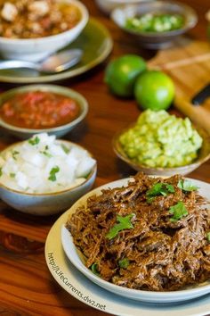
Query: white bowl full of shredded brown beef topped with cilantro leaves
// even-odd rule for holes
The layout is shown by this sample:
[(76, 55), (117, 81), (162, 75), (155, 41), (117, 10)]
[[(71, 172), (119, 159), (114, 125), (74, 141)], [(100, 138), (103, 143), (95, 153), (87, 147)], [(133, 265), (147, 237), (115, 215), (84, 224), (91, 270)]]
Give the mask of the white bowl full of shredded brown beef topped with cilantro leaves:
[(69, 209), (65, 254), (127, 298), (174, 303), (210, 293), (210, 185), (142, 173), (98, 187)]

